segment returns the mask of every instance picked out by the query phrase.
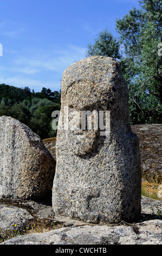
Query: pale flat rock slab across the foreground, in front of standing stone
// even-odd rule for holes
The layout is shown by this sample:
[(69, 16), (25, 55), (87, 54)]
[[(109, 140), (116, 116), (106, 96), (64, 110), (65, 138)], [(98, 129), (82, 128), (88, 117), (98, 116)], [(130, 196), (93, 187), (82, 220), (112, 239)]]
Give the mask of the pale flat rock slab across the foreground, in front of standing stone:
[(161, 245), (162, 220), (135, 225), (85, 225), (15, 237), (2, 245)]

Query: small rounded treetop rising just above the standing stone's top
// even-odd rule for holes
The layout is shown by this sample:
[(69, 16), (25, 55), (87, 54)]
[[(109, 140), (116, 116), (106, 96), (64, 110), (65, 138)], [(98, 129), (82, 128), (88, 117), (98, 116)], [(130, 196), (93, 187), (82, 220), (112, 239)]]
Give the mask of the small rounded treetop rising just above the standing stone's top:
[(98, 38), (94, 40), (94, 44), (87, 46), (87, 57), (93, 55), (108, 56), (115, 59), (120, 59), (119, 41), (105, 29), (98, 34)]

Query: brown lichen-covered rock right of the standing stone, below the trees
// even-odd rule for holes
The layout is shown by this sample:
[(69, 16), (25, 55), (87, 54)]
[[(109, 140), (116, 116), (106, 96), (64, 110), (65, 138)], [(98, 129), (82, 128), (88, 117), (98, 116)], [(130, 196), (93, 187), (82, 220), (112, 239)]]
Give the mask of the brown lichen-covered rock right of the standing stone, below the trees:
[(140, 141), (142, 176), (162, 184), (162, 124), (132, 125), (132, 131)]

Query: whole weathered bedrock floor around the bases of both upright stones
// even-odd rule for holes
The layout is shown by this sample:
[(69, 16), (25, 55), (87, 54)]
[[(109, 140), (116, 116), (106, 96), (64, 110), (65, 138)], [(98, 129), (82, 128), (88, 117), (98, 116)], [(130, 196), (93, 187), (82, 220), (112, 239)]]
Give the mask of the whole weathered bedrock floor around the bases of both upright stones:
[[(14, 203), (15, 202), (15, 203)], [(48, 222), (51, 231), (21, 235), (9, 239), (2, 245), (161, 245), (162, 220), (158, 220), (162, 202), (150, 198), (141, 199), (141, 220), (135, 223), (94, 225), (68, 217), (56, 217), (49, 205), (34, 201), (17, 200), (0, 204), (1, 230), (25, 230), (30, 224)], [(9, 204), (15, 205), (9, 205)], [(17, 204), (17, 206), (16, 206)], [(18, 206), (19, 205), (19, 206)], [(51, 225), (55, 223), (55, 228)], [(1, 231), (0, 231), (1, 236)]]

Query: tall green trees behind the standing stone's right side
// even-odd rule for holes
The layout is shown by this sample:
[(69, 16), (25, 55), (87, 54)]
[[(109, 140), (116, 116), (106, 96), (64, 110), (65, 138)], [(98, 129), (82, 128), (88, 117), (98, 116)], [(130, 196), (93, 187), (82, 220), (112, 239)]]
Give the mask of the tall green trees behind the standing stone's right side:
[(87, 46), (87, 56), (101, 55), (118, 60), (129, 89), (132, 124), (160, 124), (162, 58), (158, 52), (162, 42), (162, 1), (139, 2), (139, 9), (133, 8), (116, 20), (118, 40), (107, 29), (100, 32), (94, 44)]

